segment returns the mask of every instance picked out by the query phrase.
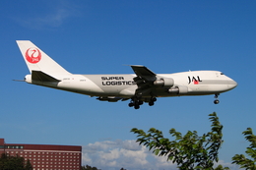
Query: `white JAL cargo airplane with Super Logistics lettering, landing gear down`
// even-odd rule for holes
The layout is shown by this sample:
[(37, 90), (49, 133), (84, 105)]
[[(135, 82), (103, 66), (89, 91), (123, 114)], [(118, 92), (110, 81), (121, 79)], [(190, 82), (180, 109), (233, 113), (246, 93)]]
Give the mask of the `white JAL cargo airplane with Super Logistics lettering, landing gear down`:
[(56, 89), (96, 96), (100, 101), (129, 100), (129, 107), (139, 109), (147, 102), (153, 106), (157, 97), (215, 95), (234, 88), (237, 83), (219, 71), (189, 71), (156, 74), (145, 66), (130, 65), (134, 74), (78, 75), (71, 74), (35, 46), (30, 40), (17, 40), (30, 70), (25, 82)]

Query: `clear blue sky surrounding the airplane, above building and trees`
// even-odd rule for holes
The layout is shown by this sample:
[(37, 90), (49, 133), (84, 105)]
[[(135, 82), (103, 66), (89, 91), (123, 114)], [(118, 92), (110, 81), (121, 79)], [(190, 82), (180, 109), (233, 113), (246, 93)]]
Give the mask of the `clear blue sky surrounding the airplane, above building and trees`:
[[(168, 137), (224, 125), (221, 162), (246, 146), (255, 124), (255, 1), (0, 1), (0, 138), (9, 143), (83, 145), (83, 164), (106, 170), (175, 169), (138, 146), (132, 128), (154, 127)], [(15, 40), (32, 40), (74, 74), (218, 70), (238, 83), (214, 96), (160, 98), (134, 110), (86, 95), (13, 82), (29, 74)]]

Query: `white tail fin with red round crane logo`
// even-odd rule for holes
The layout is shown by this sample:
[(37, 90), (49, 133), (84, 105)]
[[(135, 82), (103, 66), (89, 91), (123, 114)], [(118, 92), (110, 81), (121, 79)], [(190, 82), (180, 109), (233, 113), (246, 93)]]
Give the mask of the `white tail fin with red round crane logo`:
[(70, 74), (30, 40), (17, 40), (16, 42), (31, 73), (32, 71), (40, 71), (53, 76)]

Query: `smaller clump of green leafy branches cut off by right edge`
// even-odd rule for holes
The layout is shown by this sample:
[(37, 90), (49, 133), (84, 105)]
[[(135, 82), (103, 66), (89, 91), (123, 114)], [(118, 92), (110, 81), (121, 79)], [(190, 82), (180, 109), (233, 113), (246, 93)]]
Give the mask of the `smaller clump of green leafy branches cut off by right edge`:
[(242, 134), (245, 136), (245, 140), (250, 142), (245, 153), (250, 156), (251, 159), (246, 158), (243, 154), (235, 154), (232, 157), (232, 163), (240, 165), (240, 168), (245, 168), (246, 170), (256, 170), (256, 136), (253, 135), (251, 128), (247, 128)]

